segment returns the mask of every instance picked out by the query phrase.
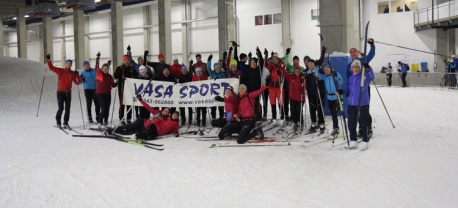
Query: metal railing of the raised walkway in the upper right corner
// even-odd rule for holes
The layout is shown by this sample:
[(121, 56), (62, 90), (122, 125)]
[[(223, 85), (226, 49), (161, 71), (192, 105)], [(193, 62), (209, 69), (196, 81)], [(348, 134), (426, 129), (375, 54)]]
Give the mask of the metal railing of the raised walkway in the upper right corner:
[(443, 4), (415, 11), (413, 13), (414, 25), (422, 26), (438, 23), (440, 21), (451, 21), (458, 17), (458, 11), (455, 11), (455, 4), (455, 1), (448, 1)]

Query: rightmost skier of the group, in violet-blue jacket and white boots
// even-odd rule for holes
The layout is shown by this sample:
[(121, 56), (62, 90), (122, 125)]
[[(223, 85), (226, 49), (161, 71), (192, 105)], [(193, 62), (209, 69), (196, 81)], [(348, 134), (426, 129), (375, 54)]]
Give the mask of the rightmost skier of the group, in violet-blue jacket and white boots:
[[(369, 83), (374, 79), (374, 72), (372, 68), (366, 63), (365, 66), (365, 73), (363, 74), (361, 71), (361, 61), (353, 60), (351, 64), (351, 68), (353, 71), (353, 75), (348, 78), (347, 81), (347, 88), (343, 90), (336, 90), (339, 94), (346, 94), (347, 101), (348, 101), (348, 130), (350, 131), (350, 145), (349, 149), (355, 149), (356, 147), (356, 125), (359, 124), (361, 128), (361, 134), (363, 137), (363, 141), (359, 145), (360, 150), (364, 151), (369, 148), (369, 136), (368, 136), (368, 124), (369, 124), (369, 104), (370, 104), (370, 97), (369, 97)], [(360, 95), (361, 89), (361, 80), (364, 76), (364, 85), (362, 90), (362, 95)], [(359, 112), (359, 118), (357, 118), (358, 114), (358, 106), (359, 106), (359, 97), (361, 98), (361, 106)]]

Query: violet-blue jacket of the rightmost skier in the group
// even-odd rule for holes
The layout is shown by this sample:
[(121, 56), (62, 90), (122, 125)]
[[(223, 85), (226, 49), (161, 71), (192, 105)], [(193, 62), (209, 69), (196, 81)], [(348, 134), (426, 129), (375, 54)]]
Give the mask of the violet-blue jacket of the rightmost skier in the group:
[[(347, 82), (348, 86), (347, 86), (347, 89), (345, 89), (344, 91), (346, 94), (349, 94), (347, 98), (348, 105), (358, 106), (359, 90), (361, 88), (361, 77), (362, 77), (361, 74), (362, 74), (362, 71), (356, 75), (351, 75), (348, 78), (348, 82)], [(372, 68), (369, 68), (364, 73), (364, 87), (363, 87), (363, 97), (361, 100), (361, 106), (369, 105), (370, 103), (368, 87), (369, 87), (369, 83), (372, 80), (374, 80), (374, 72), (372, 71)]]

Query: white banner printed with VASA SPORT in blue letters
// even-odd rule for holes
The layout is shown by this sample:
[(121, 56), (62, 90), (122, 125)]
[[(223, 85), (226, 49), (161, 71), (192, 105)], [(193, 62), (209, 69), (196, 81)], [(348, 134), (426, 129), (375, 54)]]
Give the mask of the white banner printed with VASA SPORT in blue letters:
[(217, 102), (214, 99), (215, 96), (224, 97), (225, 90), (229, 86), (234, 87), (234, 91), (237, 92), (239, 86), (239, 80), (235, 78), (183, 84), (151, 81), (148, 85), (148, 81), (127, 78), (124, 83), (124, 105), (141, 106), (142, 104), (137, 100), (137, 94), (143, 92), (143, 100), (152, 107), (224, 106), (224, 102)]

